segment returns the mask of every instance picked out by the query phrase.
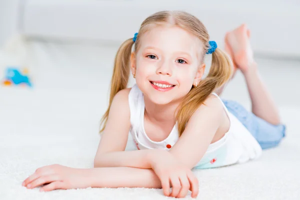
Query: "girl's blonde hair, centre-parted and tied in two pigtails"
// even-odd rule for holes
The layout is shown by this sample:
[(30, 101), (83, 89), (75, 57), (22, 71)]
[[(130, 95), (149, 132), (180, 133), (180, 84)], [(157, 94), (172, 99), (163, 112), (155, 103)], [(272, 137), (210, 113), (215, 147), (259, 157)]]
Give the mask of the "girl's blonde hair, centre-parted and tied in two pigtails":
[[(136, 52), (138, 50), (141, 42), (139, 38), (144, 32), (148, 31), (151, 27), (166, 24), (178, 26), (199, 38), (203, 44), (203, 60), (204, 55), (209, 48), (209, 35), (205, 26), (199, 19), (184, 11), (160, 11), (147, 17), (141, 23), (138, 36), (135, 40), (134, 51)], [(102, 128), (100, 129), (100, 132), (105, 128), (114, 95), (119, 90), (127, 87), (130, 73), (129, 61), (133, 43), (132, 38), (127, 39), (121, 44), (116, 53), (111, 79), (109, 105), (101, 119)], [(185, 124), (193, 112), (205, 101), (215, 88), (220, 87), (230, 78), (231, 71), (232, 66), (230, 59), (222, 50), (216, 48), (212, 53), (211, 67), (207, 76), (200, 80), (196, 87), (190, 89), (177, 108), (176, 120), (179, 136), (182, 134)]]

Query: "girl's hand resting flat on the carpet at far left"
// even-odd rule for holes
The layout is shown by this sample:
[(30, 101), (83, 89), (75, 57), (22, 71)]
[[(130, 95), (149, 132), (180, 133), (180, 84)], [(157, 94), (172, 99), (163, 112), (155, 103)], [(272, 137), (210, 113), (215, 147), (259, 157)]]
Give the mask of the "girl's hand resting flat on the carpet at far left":
[(31, 189), (48, 183), (41, 187), (39, 189), (40, 191), (86, 188), (90, 186), (88, 177), (89, 169), (71, 168), (59, 164), (52, 164), (36, 169), (32, 175), (22, 182), (22, 186)]

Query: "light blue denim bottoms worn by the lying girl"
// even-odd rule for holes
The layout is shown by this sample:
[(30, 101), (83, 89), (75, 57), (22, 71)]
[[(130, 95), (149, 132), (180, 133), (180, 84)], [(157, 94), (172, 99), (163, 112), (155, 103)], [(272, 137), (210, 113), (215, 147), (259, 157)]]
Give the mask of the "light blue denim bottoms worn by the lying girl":
[(252, 112), (247, 111), (242, 105), (233, 100), (224, 100), (228, 111), (249, 130), (258, 141), (262, 149), (277, 146), (285, 136), (285, 125), (273, 125)]

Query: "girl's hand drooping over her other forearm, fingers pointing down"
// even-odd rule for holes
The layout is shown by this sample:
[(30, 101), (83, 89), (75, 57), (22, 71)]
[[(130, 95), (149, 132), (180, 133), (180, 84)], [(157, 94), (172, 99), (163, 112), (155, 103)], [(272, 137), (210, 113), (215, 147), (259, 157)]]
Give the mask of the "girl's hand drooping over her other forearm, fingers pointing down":
[[(179, 162), (171, 153), (165, 151), (165, 153), (156, 154), (151, 166), (160, 179), (164, 195), (181, 198), (186, 196), (188, 190), (191, 190), (192, 197), (198, 195), (198, 179), (187, 166)], [(172, 186), (171, 194), (170, 186)]]

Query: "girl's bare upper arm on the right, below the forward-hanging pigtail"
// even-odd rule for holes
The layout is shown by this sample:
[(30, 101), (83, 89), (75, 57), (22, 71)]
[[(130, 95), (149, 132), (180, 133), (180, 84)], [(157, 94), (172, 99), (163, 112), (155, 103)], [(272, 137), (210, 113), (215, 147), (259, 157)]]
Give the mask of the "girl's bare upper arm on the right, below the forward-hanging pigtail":
[(194, 167), (206, 152), (224, 114), (220, 99), (212, 95), (208, 97), (189, 118), (183, 133), (169, 152), (187, 167)]

